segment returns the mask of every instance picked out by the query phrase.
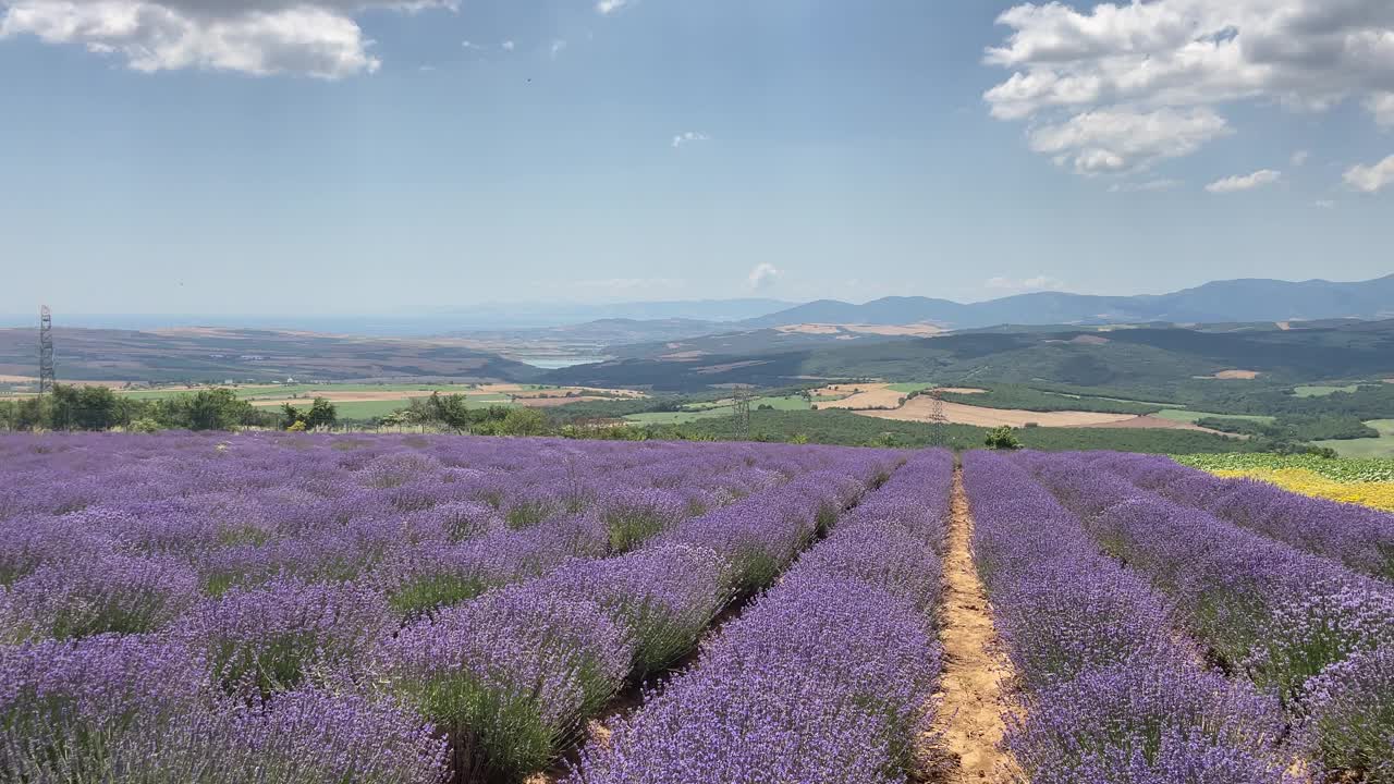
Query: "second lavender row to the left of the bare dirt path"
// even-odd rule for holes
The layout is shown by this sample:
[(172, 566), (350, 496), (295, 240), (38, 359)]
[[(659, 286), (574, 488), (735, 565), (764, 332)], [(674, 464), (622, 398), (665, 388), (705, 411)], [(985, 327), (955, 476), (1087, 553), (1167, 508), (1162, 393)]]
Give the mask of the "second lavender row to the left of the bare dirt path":
[(690, 650), (732, 596), (768, 585), (885, 467), (815, 472), (652, 547), (447, 608), (385, 642), (375, 671), (449, 734), (467, 780), (539, 771), (626, 681)]

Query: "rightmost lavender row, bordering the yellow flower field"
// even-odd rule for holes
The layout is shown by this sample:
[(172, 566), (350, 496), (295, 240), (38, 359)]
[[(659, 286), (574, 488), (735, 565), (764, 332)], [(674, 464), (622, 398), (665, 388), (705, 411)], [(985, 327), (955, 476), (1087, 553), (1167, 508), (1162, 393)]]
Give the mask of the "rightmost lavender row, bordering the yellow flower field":
[(1387, 512), (1288, 492), (1266, 481), (1220, 478), (1156, 455), (1094, 452), (1079, 458), (1168, 501), (1394, 580), (1394, 515)]

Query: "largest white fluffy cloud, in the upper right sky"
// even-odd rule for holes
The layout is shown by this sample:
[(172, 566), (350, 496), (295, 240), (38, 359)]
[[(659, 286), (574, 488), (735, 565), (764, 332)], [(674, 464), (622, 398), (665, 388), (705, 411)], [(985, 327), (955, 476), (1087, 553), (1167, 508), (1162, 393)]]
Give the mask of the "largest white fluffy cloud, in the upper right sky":
[[(1225, 133), (1216, 107), (1259, 99), (1319, 112), (1359, 99), (1394, 126), (1390, 0), (1150, 0), (1079, 8), (1022, 4), (998, 22), (1006, 40), (986, 63), (1011, 75), (984, 93), (993, 116), (1030, 120), (1033, 146), (1082, 172), (1126, 170), (1189, 155)], [(1119, 126), (1160, 112), (1189, 119), (1185, 142), (1153, 153), (1096, 137), (1079, 152), (1037, 142), (1041, 127)], [(1046, 148), (1046, 149), (1041, 149)]]

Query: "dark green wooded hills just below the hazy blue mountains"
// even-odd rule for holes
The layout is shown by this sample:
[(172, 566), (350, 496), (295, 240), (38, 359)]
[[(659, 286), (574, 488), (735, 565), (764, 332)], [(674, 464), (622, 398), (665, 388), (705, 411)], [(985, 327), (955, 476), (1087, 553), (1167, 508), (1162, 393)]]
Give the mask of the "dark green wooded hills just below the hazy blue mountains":
[(553, 371), (546, 379), (669, 391), (871, 377), (1146, 388), (1225, 371), (1295, 381), (1394, 374), (1394, 319), (1287, 331), (1047, 328), (822, 343), (796, 350), (679, 352), (577, 365)]

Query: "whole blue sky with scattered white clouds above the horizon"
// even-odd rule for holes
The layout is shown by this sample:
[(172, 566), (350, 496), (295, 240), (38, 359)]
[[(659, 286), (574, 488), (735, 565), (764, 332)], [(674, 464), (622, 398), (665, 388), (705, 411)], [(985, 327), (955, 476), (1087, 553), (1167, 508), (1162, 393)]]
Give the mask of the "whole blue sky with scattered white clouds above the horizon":
[(0, 312), (1394, 272), (1387, 0), (0, 0)]

